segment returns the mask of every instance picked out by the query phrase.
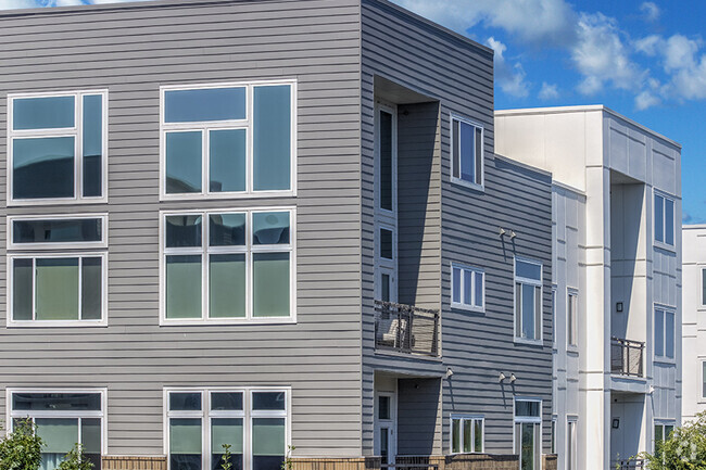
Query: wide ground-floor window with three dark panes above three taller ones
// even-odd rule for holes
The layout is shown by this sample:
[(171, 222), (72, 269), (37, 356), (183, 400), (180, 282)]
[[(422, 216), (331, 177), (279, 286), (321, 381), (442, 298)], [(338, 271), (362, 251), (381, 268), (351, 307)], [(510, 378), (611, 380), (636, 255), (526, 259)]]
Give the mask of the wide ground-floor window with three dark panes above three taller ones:
[(165, 389), (164, 453), (169, 470), (279, 469), (291, 441), (291, 389)]

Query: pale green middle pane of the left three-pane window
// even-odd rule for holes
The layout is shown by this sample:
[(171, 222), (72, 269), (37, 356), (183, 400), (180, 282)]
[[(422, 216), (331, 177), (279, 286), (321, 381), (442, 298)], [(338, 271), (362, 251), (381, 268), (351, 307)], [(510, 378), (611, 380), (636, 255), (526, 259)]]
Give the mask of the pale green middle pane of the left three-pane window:
[(78, 320), (78, 258), (36, 261), (37, 320)]

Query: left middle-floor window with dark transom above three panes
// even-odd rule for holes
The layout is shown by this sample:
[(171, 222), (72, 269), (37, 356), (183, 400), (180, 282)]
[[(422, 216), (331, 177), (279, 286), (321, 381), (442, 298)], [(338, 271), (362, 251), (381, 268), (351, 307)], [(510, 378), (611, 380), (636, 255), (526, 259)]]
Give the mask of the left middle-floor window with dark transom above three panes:
[[(9, 225), (8, 326), (106, 325), (108, 217), (9, 217)], [(72, 247), (86, 249), (54, 250)]]

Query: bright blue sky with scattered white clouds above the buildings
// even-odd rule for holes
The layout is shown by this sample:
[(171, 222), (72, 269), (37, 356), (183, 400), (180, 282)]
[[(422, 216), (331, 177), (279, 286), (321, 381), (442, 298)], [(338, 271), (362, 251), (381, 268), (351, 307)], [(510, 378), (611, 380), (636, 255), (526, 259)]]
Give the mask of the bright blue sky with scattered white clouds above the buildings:
[(393, 1), (495, 50), (496, 109), (605, 104), (680, 142), (683, 221), (706, 223), (706, 1)]

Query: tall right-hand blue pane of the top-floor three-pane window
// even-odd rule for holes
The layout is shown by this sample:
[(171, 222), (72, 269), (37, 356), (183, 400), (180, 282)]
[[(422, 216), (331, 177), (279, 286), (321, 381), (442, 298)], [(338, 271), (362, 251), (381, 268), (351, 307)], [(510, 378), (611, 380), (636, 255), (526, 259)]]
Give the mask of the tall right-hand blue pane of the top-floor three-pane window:
[(254, 87), (253, 183), (255, 191), (290, 189), (291, 87)]

